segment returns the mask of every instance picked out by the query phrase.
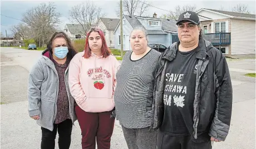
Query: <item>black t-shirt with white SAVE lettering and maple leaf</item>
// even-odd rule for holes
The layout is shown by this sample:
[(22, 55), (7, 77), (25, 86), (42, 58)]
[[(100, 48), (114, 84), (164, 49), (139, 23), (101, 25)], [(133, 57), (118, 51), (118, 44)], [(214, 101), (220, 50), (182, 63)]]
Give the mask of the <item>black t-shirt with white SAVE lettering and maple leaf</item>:
[(160, 129), (169, 135), (185, 136), (193, 132), (197, 64), (196, 49), (178, 50), (176, 58), (166, 66), (164, 120)]

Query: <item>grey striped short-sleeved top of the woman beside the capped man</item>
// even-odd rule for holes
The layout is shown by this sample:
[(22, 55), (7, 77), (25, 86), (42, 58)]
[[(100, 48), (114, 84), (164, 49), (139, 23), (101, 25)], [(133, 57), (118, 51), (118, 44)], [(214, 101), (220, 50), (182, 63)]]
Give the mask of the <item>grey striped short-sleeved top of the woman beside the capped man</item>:
[(149, 94), (152, 71), (161, 53), (151, 49), (143, 58), (131, 60), (132, 51), (125, 54), (116, 74), (115, 107), (117, 120), (127, 129), (149, 126), (146, 117), (146, 99)]

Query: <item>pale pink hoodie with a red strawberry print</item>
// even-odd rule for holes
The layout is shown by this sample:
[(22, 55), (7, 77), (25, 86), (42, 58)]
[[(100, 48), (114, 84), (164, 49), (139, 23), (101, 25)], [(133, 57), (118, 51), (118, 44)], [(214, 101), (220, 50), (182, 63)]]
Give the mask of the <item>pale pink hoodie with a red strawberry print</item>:
[(77, 53), (70, 61), (68, 84), (71, 95), (86, 112), (111, 111), (115, 107), (113, 95), (120, 63), (112, 55), (103, 58), (92, 53), (85, 59), (83, 54)]

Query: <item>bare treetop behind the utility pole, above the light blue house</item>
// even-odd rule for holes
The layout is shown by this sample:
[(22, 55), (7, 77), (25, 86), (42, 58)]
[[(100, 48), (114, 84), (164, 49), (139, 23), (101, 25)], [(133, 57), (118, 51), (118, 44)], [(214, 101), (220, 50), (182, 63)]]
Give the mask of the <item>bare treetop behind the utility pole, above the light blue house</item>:
[[(149, 7), (149, 3), (145, 3), (145, 1), (122, 1), (123, 14), (129, 16), (144, 16)], [(117, 3), (116, 16), (120, 17), (120, 2)]]

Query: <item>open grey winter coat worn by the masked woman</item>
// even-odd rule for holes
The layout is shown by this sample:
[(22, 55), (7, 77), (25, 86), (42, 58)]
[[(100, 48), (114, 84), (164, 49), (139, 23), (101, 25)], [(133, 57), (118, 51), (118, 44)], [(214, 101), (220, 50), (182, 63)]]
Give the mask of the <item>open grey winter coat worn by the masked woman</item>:
[[(28, 114), (40, 115), (36, 120), (41, 127), (53, 130), (53, 122), (57, 114), (58, 74), (54, 63), (47, 56), (37, 61), (28, 78)], [(68, 67), (65, 71), (65, 84), (69, 100), (69, 110), (72, 122), (77, 120), (74, 111), (75, 99), (68, 88)]]

